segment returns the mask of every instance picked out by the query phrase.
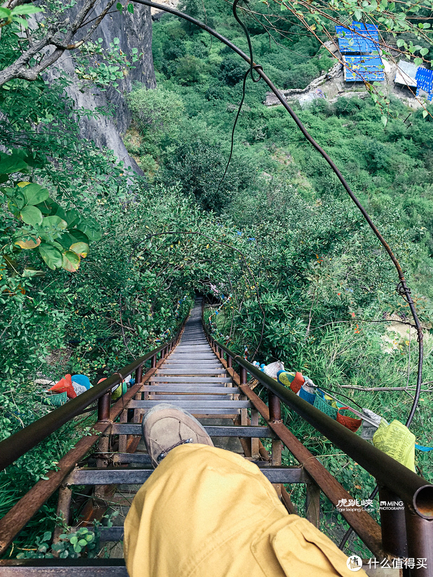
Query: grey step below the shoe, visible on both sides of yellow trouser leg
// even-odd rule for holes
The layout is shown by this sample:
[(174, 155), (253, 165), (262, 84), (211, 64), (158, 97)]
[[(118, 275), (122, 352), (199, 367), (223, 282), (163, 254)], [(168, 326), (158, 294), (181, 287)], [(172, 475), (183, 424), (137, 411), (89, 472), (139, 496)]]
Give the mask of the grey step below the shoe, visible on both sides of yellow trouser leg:
[[(303, 467), (263, 467), (260, 469), (271, 483), (305, 483)], [(154, 469), (148, 467), (107, 467), (104, 469), (75, 469), (66, 477), (66, 485), (138, 485), (150, 477)]]

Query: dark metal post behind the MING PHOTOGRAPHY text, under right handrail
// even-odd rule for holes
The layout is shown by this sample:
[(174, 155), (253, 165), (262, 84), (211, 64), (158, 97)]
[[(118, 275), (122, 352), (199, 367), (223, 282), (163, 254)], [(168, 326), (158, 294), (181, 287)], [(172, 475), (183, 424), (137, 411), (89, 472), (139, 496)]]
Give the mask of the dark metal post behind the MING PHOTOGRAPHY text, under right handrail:
[[(392, 503), (400, 499), (384, 487), (379, 488), (379, 502)], [(404, 509), (393, 511), (389, 507), (380, 508), (380, 527), (382, 529), (382, 545), (386, 553), (394, 557), (408, 556), (408, 539), (406, 537), (406, 520)], [(391, 509), (391, 510), (387, 510)]]

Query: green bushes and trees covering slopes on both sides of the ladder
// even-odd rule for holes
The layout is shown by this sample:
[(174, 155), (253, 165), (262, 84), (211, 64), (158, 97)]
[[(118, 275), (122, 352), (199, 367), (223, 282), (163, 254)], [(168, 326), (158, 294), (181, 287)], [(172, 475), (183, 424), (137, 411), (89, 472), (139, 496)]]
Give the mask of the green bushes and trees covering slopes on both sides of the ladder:
[[(206, 15), (201, 3), (185, 9), (247, 50), (229, 5), (206, 2)], [(280, 45), (250, 24), (256, 59), (279, 87), (304, 88), (333, 64), (296, 23), (284, 24), (290, 40)], [(15, 32), (2, 29), (2, 69), (15, 58)], [(263, 105), (264, 85), (248, 83), (232, 160), (220, 183), (245, 64), (205, 33), (167, 16), (154, 24), (153, 46), (158, 88), (137, 86), (130, 93), (133, 123), (125, 134), (144, 177), (130, 178), (109, 151), (80, 137), (77, 118), (95, 113), (77, 110), (65, 96), (70, 79), (15, 79), (1, 90), (1, 160), (21, 159), (13, 171), (4, 170), (0, 210), (1, 436), (49, 410), (36, 377), (86, 373), (94, 381), (116, 370), (152, 349), (188, 312), (195, 291), (210, 286), (217, 295), (233, 296), (214, 330), (240, 353), (247, 347), (249, 359), (257, 349), (256, 359), (281, 359), (340, 393), (340, 385), (413, 385), (413, 333), (387, 331), (387, 315), (410, 321), (407, 304), (395, 293), (395, 272), (323, 159), (281, 107)], [(399, 118), (386, 128), (368, 98), (319, 100), (298, 114), (408, 271), (429, 329), (433, 121), (420, 110), (403, 123), (409, 112), (397, 100), (393, 111)], [(27, 182), (47, 190), (43, 201), (29, 202)], [(66, 233), (88, 245), (88, 254), (69, 254), (64, 266), (58, 255), (72, 248)], [(51, 257), (32, 238), (42, 238)], [(21, 246), (20, 239), (30, 244)], [(432, 380), (427, 339), (424, 381)], [(372, 395), (348, 388), (344, 394), (403, 422), (412, 403), (410, 391)], [(350, 492), (368, 496), (369, 475), (335, 455), (296, 415), (286, 419)], [(91, 422), (77, 420), (75, 437), (65, 427), (3, 471), (0, 511), (43, 478)], [(430, 392), (421, 396), (412, 430), (420, 444), (432, 444)], [(417, 455), (417, 466), (433, 479), (428, 454)], [(17, 546), (53, 525), (53, 503)]]

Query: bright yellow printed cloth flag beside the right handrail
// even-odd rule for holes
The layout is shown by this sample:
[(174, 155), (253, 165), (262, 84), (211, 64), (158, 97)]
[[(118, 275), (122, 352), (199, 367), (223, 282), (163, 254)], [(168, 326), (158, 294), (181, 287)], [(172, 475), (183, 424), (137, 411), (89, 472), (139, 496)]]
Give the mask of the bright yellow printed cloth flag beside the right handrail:
[(415, 435), (397, 419), (386, 424), (380, 421), (373, 435), (373, 444), (399, 463), (415, 471)]

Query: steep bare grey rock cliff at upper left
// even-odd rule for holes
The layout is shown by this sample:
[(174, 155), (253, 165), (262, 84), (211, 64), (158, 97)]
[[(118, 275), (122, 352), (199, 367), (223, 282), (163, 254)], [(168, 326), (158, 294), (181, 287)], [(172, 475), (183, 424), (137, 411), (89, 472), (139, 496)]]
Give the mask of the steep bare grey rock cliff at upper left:
[[(81, 1), (77, 2), (75, 9), (79, 9)], [(103, 8), (104, 2), (97, 3), (88, 20), (97, 16)], [(135, 68), (129, 70), (128, 76), (119, 82), (119, 92), (114, 88), (100, 91), (92, 86), (79, 91), (79, 83), (68, 88), (68, 94), (76, 102), (77, 107), (84, 107), (91, 110), (95, 108), (114, 108), (113, 116), (99, 115), (98, 118), (83, 118), (80, 121), (80, 132), (83, 138), (93, 140), (99, 147), (107, 147), (114, 151), (119, 160), (125, 163), (125, 167), (132, 167), (133, 170), (141, 173), (135, 160), (130, 158), (126, 152), (121, 134), (128, 129), (130, 123), (130, 113), (126, 104), (125, 95), (130, 92), (132, 84), (136, 81), (144, 83), (148, 88), (155, 88), (155, 72), (152, 59), (152, 20), (150, 9), (143, 5), (134, 5), (134, 13), (129, 14), (126, 10), (121, 14), (118, 10), (103, 19), (96, 29), (92, 40), (103, 39), (103, 47), (109, 48), (110, 42), (114, 38), (120, 39), (120, 47), (126, 57), (131, 54), (132, 48), (138, 48), (141, 57), (135, 62)], [(79, 40), (77, 33), (75, 40)], [(129, 59), (129, 58), (128, 58)], [(76, 77), (74, 73), (74, 63), (68, 55), (60, 58), (56, 64), (57, 69), (62, 69), (68, 76)], [(55, 69), (51, 73), (55, 74)]]

